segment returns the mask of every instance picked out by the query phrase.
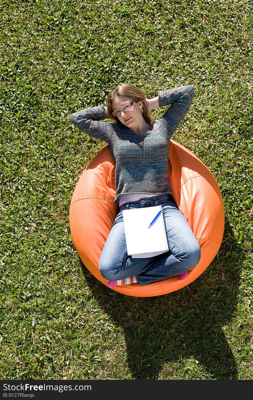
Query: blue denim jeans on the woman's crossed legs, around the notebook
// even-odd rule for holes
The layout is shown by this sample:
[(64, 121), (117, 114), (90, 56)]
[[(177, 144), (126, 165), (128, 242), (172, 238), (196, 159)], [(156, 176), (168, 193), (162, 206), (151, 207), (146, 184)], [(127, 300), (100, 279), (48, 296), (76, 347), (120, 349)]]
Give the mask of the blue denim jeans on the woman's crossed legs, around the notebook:
[[(169, 251), (149, 258), (127, 255), (122, 210), (163, 206)], [(115, 218), (99, 260), (101, 275), (119, 280), (135, 275), (140, 285), (147, 285), (193, 268), (200, 260), (200, 247), (172, 196), (154, 196), (123, 204)]]

